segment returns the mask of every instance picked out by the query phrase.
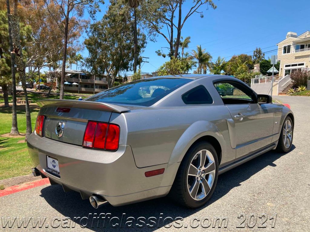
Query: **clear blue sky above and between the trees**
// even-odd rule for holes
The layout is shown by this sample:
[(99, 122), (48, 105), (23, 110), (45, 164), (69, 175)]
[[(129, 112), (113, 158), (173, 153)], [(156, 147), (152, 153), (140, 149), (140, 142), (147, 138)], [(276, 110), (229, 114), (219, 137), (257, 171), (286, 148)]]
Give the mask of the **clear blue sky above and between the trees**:
[[(229, 60), (234, 54), (247, 53), (253, 55), (256, 47), (265, 48), (263, 52), (277, 49), (276, 44), (285, 39), (289, 31), (301, 34), (310, 30), (309, 0), (214, 0), (217, 9), (204, 11), (204, 17), (194, 14), (186, 21), (182, 34), (184, 38), (191, 37), (191, 43), (186, 51), (191, 52), (201, 45), (210, 52), (213, 59), (218, 56)], [(192, 1), (188, 0), (182, 6), (182, 16), (187, 13)], [(108, 0), (97, 14), (100, 20), (107, 10)], [(184, 14), (184, 15), (183, 15)], [(176, 35), (176, 32), (175, 32)], [(81, 37), (83, 41), (85, 35)], [(157, 56), (156, 50), (167, 47), (165, 39), (158, 35), (157, 42), (148, 41), (142, 54), (149, 63), (144, 63), (142, 72), (156, 71), (169, 58)], [(164, 50), (165, 51), (165, 50)], [(277, 54), (277, 51), (265, 55), (265, 58)], [(87, 51), (82, 52), (87, 56)], [(124, 74), (124, 72), (122, 72)], [(128, 71), (127, 75), (131, 75)]]

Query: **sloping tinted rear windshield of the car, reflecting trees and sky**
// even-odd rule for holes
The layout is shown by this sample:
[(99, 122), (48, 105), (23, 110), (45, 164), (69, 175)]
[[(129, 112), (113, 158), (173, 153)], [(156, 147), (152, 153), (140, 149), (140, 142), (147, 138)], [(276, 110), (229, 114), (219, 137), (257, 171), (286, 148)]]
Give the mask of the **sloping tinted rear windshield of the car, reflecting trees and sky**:
[(193, 79), (155, 78), (133, 81), (91, 96), (86, 101), (150, 106)]

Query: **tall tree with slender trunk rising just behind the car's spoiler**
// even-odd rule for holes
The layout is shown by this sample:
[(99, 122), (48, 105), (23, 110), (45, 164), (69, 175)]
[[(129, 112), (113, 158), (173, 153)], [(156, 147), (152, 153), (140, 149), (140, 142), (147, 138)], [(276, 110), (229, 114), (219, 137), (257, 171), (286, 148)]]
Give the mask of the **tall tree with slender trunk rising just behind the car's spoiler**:
[[(64, 98), (64, 77), (66, 70), (67, 60), (67, 45), (69, 34), (69, 23), (76, 24), (78, 26), (86, 27), (87, 20), (82, 19), (84, 12), (87, 11), (92, 19), (95, 19), (95, 13), (100, 11), (99, 3), (104, 4), (103, 0), (44, 0), (49, 13), (55, 20), (55, 23), (59, 23), (59, 16), (64, 20), (62, 24), (58, 24), (60, 30), (64, 35), (64, 44), (62, 51), (62, 68), (61, 68), (61, 82), (60, 82), (60, 99)], [(55, 15), (50, 9), (52, 6), (60, 8), (60, 15)]]

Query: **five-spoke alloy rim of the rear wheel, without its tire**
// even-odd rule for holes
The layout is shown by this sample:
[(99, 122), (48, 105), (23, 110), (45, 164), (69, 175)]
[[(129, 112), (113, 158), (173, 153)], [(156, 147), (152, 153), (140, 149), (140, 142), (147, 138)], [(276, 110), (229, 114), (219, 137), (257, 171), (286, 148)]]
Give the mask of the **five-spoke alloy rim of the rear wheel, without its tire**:
[(212, 153), (200, 150), (193, 157), (187, 174), (187, 188), (194, 200), (204, 199), (210, 192), (215, 178), (215, 161)]

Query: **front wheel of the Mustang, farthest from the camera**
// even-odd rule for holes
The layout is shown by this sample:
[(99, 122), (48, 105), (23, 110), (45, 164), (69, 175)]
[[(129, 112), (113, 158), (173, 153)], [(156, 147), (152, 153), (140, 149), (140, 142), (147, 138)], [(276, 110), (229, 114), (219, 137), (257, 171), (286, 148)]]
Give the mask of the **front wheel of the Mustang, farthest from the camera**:
[(286, 117), (282, 125), (282, 130), (277, 145), (278, 152), (286, 153), (290, 151), (290, 149), (292, 148), (293, 133), (294, 133), (293, 122), (292, 119), (288, 116)]

